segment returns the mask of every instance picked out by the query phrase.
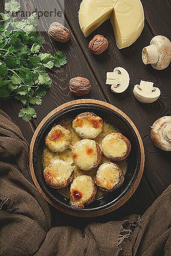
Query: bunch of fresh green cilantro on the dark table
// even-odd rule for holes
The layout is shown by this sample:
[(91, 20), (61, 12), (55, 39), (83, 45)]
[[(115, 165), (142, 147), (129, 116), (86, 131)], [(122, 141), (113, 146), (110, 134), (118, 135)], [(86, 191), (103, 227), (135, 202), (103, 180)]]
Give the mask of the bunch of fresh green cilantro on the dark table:
[(40, 52), (43, 37), (35, 29), (36, 13), (22, 20), (12, 17), (20, 10), (15, 0), (6, 3), (5, 10), (7, 14), (0, 13), (0, 98), (20, 100), (24, 108), (19, 116), (28, 122), (37, 116), (30, 105), (41, 105), (52, 84), (47, 70), (63, 66), (67, 59), (63, 52)]

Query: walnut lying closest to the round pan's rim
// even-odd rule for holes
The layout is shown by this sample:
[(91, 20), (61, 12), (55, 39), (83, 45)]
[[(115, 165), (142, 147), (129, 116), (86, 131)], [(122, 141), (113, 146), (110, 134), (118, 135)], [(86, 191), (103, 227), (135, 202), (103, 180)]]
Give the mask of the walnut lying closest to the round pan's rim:
[(84, 77), (75, 77), (70, 80), (70, 92), (76, 96), (83, 96), (89, 93), (91, 84)]

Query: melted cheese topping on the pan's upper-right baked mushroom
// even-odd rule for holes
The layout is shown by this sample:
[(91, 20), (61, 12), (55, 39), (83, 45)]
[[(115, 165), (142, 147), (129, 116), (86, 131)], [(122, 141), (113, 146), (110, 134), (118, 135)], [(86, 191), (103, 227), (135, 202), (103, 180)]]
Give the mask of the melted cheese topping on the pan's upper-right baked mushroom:
[(126, 154), (128, 145), (121, 135), (120, 133), (111, 133), (104, 137), (101, 148), (105, 157), (114, 159)]

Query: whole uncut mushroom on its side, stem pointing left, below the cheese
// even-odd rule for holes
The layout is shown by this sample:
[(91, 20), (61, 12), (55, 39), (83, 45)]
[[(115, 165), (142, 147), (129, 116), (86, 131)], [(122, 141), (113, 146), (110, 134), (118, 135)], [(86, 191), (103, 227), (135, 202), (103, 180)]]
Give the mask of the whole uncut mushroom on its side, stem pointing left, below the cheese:
[(142, 61), (156, 70), (168, 67), (171, 61), (171, 42), (163, 35), (155, 36), (150, 45), (142, 50)]

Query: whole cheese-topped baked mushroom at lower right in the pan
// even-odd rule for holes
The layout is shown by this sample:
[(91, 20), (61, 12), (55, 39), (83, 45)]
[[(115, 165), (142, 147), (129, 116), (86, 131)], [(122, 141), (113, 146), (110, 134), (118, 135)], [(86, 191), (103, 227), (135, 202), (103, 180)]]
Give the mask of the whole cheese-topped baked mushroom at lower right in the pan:
[(124, 183), (124, 173), (115, 163), (103, 163), (96, 173), (96, 184), (104, 191), (111, 192)]

